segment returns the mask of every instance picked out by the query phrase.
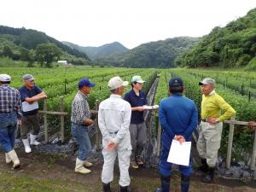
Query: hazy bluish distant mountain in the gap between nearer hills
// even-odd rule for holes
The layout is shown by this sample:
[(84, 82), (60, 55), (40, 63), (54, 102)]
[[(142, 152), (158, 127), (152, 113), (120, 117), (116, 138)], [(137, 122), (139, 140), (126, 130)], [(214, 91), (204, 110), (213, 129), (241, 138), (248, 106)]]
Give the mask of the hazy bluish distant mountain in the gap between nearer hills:
[(115, 54), (123, 54), (129, 50), (119, 42), (113, 42), (112, 44), (103, 44), (100, 47), (82, 47), (77, 44), (72, 44), (69, 42), (62, 42), (62, 43), (67, 44), (73, 49), (78, 49), (79, 51), (85, 53), (86, 55), (89, 56), (91, 60), (109, 57)]

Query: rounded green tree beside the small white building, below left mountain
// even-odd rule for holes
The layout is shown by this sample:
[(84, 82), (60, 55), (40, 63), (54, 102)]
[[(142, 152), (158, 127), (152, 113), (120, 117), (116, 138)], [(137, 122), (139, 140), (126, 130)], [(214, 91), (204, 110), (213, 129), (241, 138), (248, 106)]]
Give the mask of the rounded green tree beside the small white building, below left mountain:
[(61, 49), (55, 44), (38, 44), (36, 57), (41, 67), (51, 67), (52, 61), (61, 56)]

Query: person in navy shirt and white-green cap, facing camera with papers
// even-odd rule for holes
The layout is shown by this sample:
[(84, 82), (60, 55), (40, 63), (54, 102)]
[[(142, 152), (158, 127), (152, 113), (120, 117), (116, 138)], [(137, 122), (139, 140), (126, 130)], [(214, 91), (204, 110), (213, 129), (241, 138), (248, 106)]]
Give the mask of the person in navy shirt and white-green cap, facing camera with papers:
[(134, 169), (143, 165), (141, 154), (147, 142), (147, 128), (144, 121), (144, 108), (147, 105), (147, 96), (143, 92), (141, 76), (133, 76), (131, 79), (132, 89), (125, 94), (124, 100), (131, 104), (131, 167)]

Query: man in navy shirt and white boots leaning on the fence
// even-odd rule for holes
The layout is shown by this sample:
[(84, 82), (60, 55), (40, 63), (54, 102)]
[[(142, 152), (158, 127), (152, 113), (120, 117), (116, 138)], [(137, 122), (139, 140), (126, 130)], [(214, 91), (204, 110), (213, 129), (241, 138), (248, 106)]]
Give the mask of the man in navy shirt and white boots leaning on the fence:
[[(41, 90), (36, 84), (32, 74), (26, 74), (23, 76), (24, 85), (20, 87), (20, 99), (22, 102), (22, 119), (20, 127), (20, 137), (25, 147), (26, 153), (31, 153), (32, 149), (30, 145), (38, 145), (36, 138), (40, 131), (40, 125), (38, 121), (38, 100), (47, 98), (43, 90)], [(29, 137), (27, 136), (29, 131), (32, 130)]]

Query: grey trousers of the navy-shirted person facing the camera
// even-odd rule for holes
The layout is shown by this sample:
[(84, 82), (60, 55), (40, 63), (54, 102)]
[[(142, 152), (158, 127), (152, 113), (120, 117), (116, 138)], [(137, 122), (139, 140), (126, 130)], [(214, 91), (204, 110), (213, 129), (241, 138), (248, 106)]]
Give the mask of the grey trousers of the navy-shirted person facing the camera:
[(129, 127), (131, 134), (131, 160), (134, 160), (135, 156), (140, 156), (143, 153), (143, 149), (147, 143), (147, 127), (145, 122), (142, 124), (131, 124)]

